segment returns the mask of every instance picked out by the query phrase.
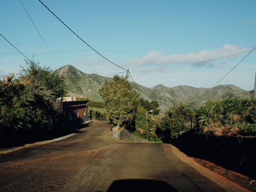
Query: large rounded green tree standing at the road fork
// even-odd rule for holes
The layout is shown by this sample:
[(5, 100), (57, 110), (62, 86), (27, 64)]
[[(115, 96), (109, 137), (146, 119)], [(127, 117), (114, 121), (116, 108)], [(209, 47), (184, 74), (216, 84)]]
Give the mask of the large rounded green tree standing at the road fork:
[(127, 79), (114, 76), (109, 82), (105, 81), (99, 94), (105, 102), (110, 123), (134, 130), (139, 96)]

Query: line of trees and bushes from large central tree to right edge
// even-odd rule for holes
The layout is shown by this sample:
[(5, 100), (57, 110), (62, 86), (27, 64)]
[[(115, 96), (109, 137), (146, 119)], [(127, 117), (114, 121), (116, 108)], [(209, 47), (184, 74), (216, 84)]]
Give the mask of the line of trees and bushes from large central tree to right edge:
[(124, 127), (129, 131), (153, 133), (164, 142), (176, 139), (180, 134), (192, 129), (197, 134), (219, 134), (225, 136), (254, 135), (256, 133), (255, 99), (227, 99), (209, 101), (200, 109), (191, 109), (184, 104), (175, 104), (152, 120), (146, 112), (153, 110), (159, 114), (157, 101), (147, 101), (139, 97), (126, 78), (113, 77), (99, 90), (105, 102), (107, 117), (113, 126)]

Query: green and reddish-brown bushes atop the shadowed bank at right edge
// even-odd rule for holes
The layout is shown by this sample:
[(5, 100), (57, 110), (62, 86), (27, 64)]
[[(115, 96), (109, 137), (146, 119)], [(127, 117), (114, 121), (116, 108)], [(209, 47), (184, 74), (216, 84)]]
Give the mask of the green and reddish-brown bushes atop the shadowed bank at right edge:
[[(207, 129), (213, 134), (220, 128), (225, 128), (227, 135), (230, 131), (241, 135), (255, 134), (256, 100), (227, 99), (208, 102), (197, 110), (197, 128), (201, 131)], [(234, 128), (238, 131), (234, 131)]]

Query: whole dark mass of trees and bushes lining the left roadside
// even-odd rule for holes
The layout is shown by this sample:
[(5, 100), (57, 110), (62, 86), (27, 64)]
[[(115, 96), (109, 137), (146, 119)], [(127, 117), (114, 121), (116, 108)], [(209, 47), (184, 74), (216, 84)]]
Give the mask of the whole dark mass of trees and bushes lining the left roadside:
[(64, 94), (59, 75), (34, 61), (26, 64), (20, 79), (0, 81), (1, 142), (26, 139), (29, 134), (44, 137), (50, 129), (59, 127), (61, 114), (56, 107)]

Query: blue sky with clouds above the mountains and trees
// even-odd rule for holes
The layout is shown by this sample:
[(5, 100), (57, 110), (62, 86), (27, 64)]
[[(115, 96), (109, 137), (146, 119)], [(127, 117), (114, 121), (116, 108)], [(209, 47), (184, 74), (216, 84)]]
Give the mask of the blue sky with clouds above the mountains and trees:
[[(0, 33), (50, 69), (70, 64), (108, 76), (124, 72), (91, 50), (38, 0), (0, 1)], [(146, 87), (211, 88), (256, 46), (256, 1), (42, 0), (85, 42)], [(50, 54), (50, 52), (52, 55)], [(24, 57), (0, 36), (0, 76)], [(218, 85), (254, 88), (256, 50)], [(125, 72), (122, 73), (125, 75)], [(119, 74), (119, 75), (122, 75)]]

